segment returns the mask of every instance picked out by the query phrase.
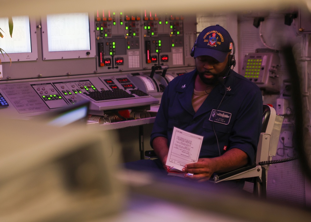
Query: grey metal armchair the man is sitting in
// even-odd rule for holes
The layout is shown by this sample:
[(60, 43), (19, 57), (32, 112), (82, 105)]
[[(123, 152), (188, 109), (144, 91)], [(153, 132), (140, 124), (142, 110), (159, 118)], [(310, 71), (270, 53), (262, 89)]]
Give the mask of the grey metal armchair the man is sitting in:
[[(277, 144), (279, 141), (283, 117), (276, 114), (272, 106), (263, 105), (262, 131), (260, 133), (255, 163), (234, 171), (222, 174), (215, 174), (212, 178), (213, 183), (220, 183), (227, 180), (246, 179), (252, 182), (253, 193), (256, 196), (267, 196), (267, 172), (272, 156), (276, 155)], [(154, 150), (146, 150), (147, 158), (156, 158)]]

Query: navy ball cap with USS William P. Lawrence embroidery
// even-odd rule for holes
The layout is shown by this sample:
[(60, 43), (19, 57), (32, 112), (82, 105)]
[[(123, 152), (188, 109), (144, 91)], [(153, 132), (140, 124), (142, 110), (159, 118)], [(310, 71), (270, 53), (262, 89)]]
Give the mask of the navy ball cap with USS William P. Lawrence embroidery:
[(195, 45), (194, 58), (206, 55), (224, 62), (233, 48), (233, 41), (227, 30), (220, 25), (212, 25), (198, 35)]

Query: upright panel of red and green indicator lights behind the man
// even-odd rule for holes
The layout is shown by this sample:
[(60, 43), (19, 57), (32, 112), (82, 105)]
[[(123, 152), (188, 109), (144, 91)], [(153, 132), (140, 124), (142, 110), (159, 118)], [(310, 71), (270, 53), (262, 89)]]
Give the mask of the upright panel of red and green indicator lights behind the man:
[[(144, 70), (155, 65), (183, 67), (186, 64), (184, 39), (195, 39), (194, 32), (195, 28), (185, 32), (183, 16), (147, 10), (141, 14), (98, 10), (95, 16), (97, 71)], [(194, 65), (193, 59), (189, 61)]]

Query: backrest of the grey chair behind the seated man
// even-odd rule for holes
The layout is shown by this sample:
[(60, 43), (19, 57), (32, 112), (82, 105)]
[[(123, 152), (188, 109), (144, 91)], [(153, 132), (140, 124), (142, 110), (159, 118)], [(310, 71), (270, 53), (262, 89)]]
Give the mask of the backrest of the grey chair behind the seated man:
[[(277, 115), (272, 106), (263, 105), (262, 132), (257, 147), (256, 164), (271, 161), (272, 156), (276, 155), (282, 122), (283, 117)], [(265, 167), (268, 168), (268, 165)]]

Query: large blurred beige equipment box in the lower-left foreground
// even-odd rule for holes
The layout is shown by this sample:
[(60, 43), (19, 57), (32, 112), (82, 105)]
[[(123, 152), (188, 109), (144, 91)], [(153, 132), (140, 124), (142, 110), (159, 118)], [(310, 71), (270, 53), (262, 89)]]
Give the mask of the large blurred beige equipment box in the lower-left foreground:
[(0, 119), (0, 221), (86, 221), (120, 211), (113, 131)]

